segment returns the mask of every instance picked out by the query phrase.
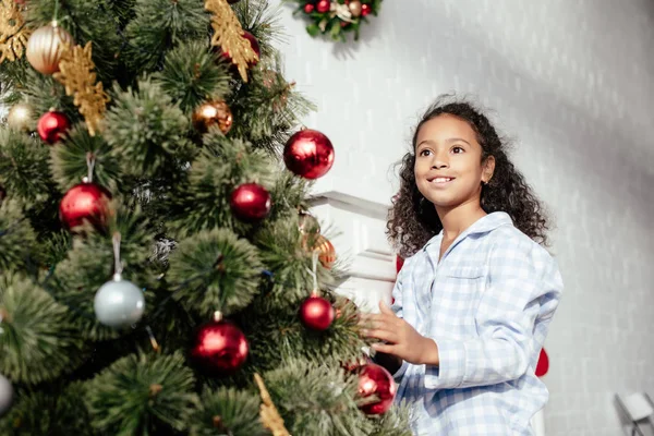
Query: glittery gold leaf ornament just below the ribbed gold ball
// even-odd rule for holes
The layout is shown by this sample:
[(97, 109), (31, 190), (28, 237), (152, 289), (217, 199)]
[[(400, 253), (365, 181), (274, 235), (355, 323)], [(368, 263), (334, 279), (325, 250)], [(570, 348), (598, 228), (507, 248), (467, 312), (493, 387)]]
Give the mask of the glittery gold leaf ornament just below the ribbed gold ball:
[(84, 117), (88, 133), (95, 136), (105, 117), (109, 96), (102, 89), (102, 83), (96, 83), (90, 41), (84, 48), (75, 46), (65, 51), (59, 69), (53, 77), (65, 87), (66, 95), (74, 96), (73, 102)]

